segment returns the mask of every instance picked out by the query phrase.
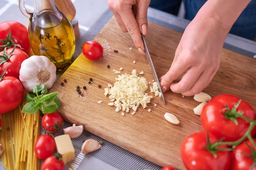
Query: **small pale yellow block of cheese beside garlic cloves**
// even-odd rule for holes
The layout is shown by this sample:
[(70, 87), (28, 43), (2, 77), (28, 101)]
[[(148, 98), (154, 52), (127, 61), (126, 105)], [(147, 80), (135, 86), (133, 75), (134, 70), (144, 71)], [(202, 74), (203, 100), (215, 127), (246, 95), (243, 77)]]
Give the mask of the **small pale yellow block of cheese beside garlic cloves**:
[(62, 161), (66, 164), (75, 159), (75, 149), (70, 139), (70, 135), (60, 135), (54, 138), (56, 150), (62, 155)]

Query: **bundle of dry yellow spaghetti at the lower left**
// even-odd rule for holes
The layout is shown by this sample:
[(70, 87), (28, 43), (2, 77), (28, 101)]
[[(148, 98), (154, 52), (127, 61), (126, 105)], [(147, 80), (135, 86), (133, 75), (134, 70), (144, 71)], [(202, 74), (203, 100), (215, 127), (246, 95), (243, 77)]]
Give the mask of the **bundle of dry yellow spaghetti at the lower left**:
[(14, 110), (0, 115), (3, 132), (2, 165), (7, 170), (37, 170), (39, 159), (34, 154), (34, 145), (40, 135), (40, 111), (22, 113), (23, 100)]

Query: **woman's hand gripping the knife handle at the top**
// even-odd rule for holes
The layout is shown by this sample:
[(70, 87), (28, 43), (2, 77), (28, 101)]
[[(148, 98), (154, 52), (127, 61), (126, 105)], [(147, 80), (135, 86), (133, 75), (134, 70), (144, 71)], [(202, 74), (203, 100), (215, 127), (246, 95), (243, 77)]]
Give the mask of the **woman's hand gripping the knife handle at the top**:
[[(123, 32), (131, 35), (131, 38), (140, 53), (145, 54), (141, 34), (147, 35), (148, 21), (147, 11), (150, 0), (108, 0), (108, 7), (115, 15), (117, 23)], [(135, 8), (136, 16), (132, 11)]]

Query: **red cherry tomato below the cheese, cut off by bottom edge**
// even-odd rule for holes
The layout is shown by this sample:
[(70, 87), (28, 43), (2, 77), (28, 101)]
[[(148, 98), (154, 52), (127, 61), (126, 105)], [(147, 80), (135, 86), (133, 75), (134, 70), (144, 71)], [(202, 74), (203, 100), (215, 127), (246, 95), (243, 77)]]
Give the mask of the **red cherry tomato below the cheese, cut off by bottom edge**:
[(45, 159), (41, 170), (64, 170), (65, 165), (59, 155), (50, 156)]

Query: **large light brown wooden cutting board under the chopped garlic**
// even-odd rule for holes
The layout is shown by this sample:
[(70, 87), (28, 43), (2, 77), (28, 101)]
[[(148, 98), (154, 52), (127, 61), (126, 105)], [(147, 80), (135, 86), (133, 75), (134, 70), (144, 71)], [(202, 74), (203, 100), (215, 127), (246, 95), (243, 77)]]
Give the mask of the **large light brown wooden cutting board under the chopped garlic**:
[[(171, 66), (182, 34), (151, 22), (148, 27), (146, 42), (160, 77)], [(181, 94), (168, 91), (164, 94), (166, 104), (154, 96), (148, 108), (140, 106), (135, 115), (131, 115), (131, 111), (124, 112), (124, 116), (121, 111), (115, 112), (114, 106), (108, 106), (110, 99), (104, 95), (104, 88), (116, 82), (118, 74), (114, 74), (113, 69), (122, 67), (120, 74), (129, 75), (133, 69), (137, 73), (144, 71), (144, 75), (140, 76), (151, 83), (153, 76), (146, 57), (137, 51), (130, 35), (121, 32), (115, 18), (106, 24), (94, 40), (103, 46), (103, 57), (93, 61), (86, 59), (83, 54), (79, 55), (50, 90), (59, 92), (62, 102), (59, 112), (65, 121), (83, 125), (88, 132), (159, 166), (172, 165), (185, 170), (180, 158), (180, 145), (185, 137), (202, 130), (200, 117), (193, 113), (193, 108), (200, 103), (193, 96), (182, 97)], [(256, 109), (255, 70), (255, 59), (223, 49), (218, 73), (204, 92), (212, 97), (222, 93), (238, 95)], [(89, 78), (93, 79), (92, 84), (88, 84)], [(67, 82), (61, 86), (63, 79), (67, 79)], [(76, 91), (77, 85), (81, 87), (83, 95)], [(83, 86), (87, 87), (86, 90), (83, 90)], [(146, 92), (154, 95), (149, 88)], [(100, 100), (103, 100), (101, 104), (98, 103)], [(154, 106), (156, 103), (157, 107)], [(180, 124), (166, 121), (166, 112), (176, 115)]]

